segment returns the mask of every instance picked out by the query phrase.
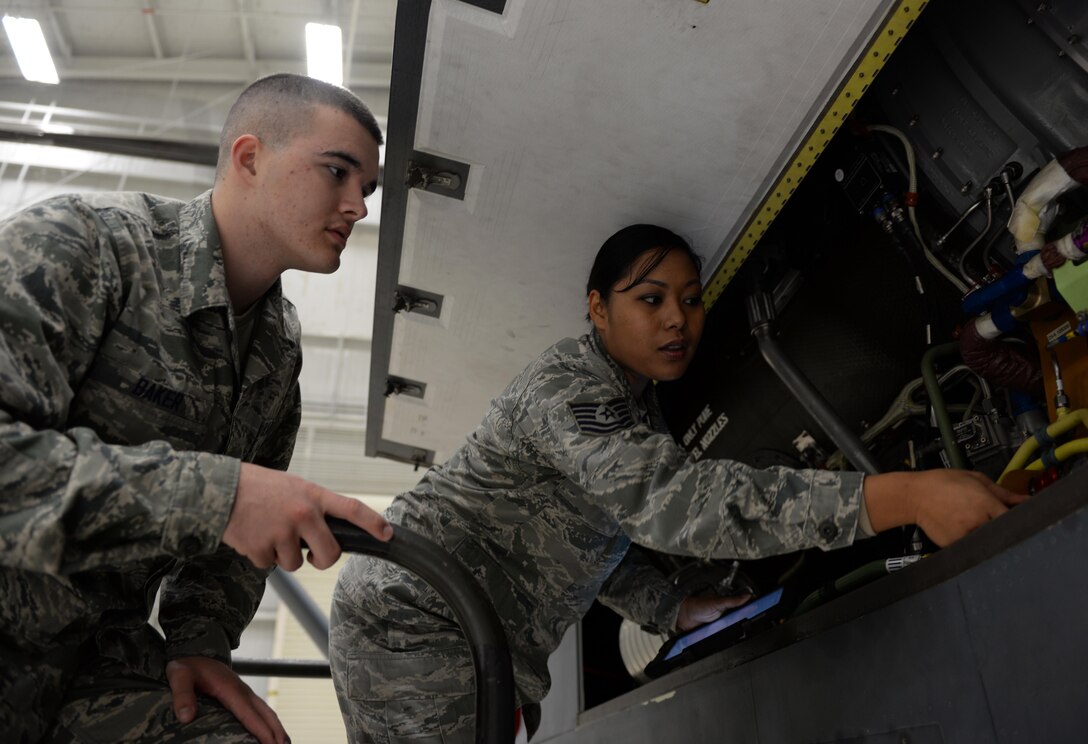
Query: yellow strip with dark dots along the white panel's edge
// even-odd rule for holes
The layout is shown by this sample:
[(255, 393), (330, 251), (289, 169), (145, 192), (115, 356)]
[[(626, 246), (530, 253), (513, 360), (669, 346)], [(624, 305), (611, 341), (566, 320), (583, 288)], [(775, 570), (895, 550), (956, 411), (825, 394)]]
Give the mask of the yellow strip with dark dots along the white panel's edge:
[(854, 110), (862, 95), (883, 67), (885, 62), (906, 36), (906, 32), (922, 14), (928, 0), (900, 0), (889, 12), (888, 18), (873, 37), (869, 46), (858, 57), (839, 91), (824, 109), (824, 114), (816, 121), (808, 136), (794, 152), (790, 164), (775, 182), (774, 187), (764, 197), (758, 209), (749, 219), (740, 236), (726, 252), (726, 258), (714, 270), (714, 274), (703, 289), (703, 305), (709, 310), (721, 296), (722, 290), (732, 281), (741, 265), (752, 255), (759, 239), (770, 227), (782, 207), (796, 190), (816, 159), (831, 141), (842, 123)]

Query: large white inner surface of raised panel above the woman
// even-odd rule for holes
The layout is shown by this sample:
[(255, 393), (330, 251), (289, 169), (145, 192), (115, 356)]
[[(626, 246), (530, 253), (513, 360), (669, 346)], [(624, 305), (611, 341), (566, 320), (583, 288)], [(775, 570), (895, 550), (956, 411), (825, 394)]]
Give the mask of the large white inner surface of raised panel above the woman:
[(616, 230), (651, 222), (713, 268), (887, 2), (434, 0), (415, 147), (471, 165), (456, 201), (413, 191), (382, 437), (442, 460), (536, 354), (583, 332), (584, 282)]

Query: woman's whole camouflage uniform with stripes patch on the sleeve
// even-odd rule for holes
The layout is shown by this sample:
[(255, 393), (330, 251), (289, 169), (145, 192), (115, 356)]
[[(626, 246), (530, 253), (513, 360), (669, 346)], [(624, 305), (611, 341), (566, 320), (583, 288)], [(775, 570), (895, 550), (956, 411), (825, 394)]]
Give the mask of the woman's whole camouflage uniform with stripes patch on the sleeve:
[[(632, 543), (705, 558), (842, 547), (861, 486), (858, 473), (694, 461), (668, 434), (653, 386), (636, 396), (591, 334), (530, 364), (386, 517), (480, 580), (530, 704), (547, 693), (548, 655), (598, 595), (636, 622), (673, 628), (683, 597)], [(406, 571), (354, 556), (333, 598), (331, 646), (355, 741), (472, 741), (467, 646), (443, 600)]]

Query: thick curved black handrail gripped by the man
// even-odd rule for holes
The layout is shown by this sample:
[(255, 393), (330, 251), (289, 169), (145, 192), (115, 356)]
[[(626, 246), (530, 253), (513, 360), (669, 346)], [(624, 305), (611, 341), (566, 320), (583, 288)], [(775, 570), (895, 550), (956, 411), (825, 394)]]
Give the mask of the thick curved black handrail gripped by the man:
[(326, 518), (341, 548), (388, 560), (434, 588), (454, 611), (472, 653), (477, 681), (477, 744), (514, 742), (514, 667), (503, 624), (475, 578), (444, 549), (396, 525), (387, 543), (350, 522)]

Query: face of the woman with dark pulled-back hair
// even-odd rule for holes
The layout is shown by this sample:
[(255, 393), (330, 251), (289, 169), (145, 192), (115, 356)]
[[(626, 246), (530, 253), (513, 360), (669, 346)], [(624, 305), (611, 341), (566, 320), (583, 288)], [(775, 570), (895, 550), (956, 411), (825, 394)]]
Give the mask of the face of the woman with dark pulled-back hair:
[(590, 293), (590, 319), (605, 350), (638, 387), (644, 379), (676, 380), (684, 373), (703, 335), (703, 285), (683, 250), (670, 250), (636, 285), (619, 292), (653, 257), (646, 251), (613, 286), (607, 300)]

